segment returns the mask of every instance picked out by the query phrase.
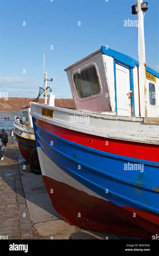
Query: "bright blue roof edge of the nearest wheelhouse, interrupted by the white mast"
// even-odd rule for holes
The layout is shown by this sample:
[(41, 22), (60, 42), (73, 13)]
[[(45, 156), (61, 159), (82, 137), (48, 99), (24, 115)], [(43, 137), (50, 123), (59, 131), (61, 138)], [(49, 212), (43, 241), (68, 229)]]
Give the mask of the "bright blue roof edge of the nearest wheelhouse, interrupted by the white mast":
[[(117, 60), (131, 68), (135, 68), (135, 66), (137, 67), (139, 66), (139, 62), (137, 60), (125, 54), (114, 51), (110, 48), (106, 49), (105, 46), (101, 46), (101, 52), (105, 55), (113, 57), (114, 60)], [(152, 68), (146, 66), (146, 71), (159, 78), (159, 73), (153, 70)]]

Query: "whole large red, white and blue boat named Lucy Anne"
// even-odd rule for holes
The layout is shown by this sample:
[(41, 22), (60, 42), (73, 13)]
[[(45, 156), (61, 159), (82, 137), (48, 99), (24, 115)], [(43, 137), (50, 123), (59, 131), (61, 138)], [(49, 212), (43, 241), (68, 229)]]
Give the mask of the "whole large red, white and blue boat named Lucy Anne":
[(159, 73), (145, 60), (147, 3), (138, 56), (102, 46), (65, 69), (74, 109), (31, 102), (36, 146), (53, 206), (68, 223), (152, 238), (159, 232)]

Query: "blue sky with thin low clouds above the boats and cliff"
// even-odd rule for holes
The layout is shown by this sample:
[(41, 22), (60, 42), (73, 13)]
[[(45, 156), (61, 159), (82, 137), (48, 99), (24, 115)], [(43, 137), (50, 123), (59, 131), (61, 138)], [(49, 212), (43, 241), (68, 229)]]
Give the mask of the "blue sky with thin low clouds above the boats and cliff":
[[(124, 27), (135, 0), (19, 0), (1, 4), (1, 84), (8, 97), (37, 97), (43, 85), (43, 53), (56, 98), (71, 98), (64, 68), (101, 45), (138, 59), (137, 28)], [(158, 0), (145, 14), (146, 62), (159, 71)], [(25, 26), (23, 26), (25, 21)], [(81, 26), (78, 26), (78, 22)], [(50, 49), (53, 45), (53, 50)], [(23, 73), (25, 69), (25, 74)]]

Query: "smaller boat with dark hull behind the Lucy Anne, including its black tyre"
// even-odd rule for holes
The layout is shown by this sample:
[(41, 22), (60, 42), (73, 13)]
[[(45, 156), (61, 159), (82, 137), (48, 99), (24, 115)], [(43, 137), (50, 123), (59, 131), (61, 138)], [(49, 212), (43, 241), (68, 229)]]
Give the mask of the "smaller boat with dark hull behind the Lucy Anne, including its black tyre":
[(39, 158), (36, 149), (33, 122), (30, 115), (30, 106), (21, 108), (21, 117), (15, 115), (13, 125), (14, 135), (17, 139), (22, 157), (26, 161), (30, 162), (32, 172), (35, 174), (41, 174)]

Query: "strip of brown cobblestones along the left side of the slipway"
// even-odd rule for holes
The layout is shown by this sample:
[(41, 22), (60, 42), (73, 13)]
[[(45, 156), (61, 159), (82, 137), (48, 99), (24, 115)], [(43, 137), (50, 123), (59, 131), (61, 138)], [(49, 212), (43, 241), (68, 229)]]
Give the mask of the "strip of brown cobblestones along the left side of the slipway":
[(7, 146), (4, 160), (0, 161), (0, 235), (8, 235), (8, 239), (33, 239), (32, 221), (20, 178), (18, 144), (16, 141), (12, 144), (9, 138)]

